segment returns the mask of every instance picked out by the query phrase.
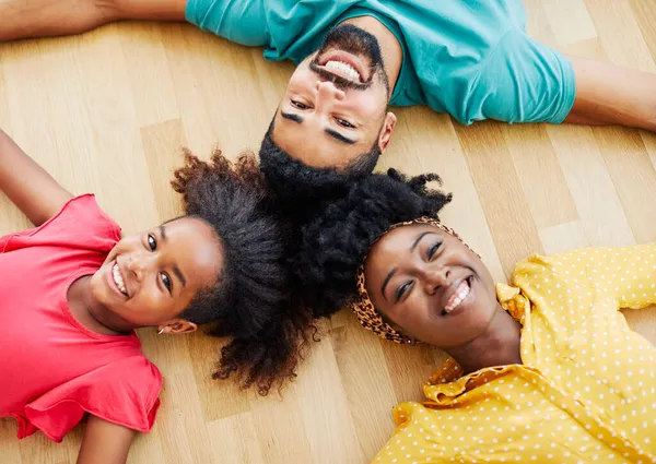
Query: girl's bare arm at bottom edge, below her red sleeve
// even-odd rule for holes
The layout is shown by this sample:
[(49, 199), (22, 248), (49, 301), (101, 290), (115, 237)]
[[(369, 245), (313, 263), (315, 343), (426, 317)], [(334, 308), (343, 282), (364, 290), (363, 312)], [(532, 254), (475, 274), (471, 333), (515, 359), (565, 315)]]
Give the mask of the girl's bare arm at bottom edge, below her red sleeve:
[(132, 429), (90, 415), (78, 464), (125, 464), (136, 435)]

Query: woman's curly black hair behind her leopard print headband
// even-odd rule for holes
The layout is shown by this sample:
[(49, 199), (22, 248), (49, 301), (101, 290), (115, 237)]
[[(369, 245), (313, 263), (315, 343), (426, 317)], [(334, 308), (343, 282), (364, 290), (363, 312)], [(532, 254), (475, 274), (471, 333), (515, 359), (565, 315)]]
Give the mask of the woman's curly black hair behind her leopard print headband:
[(396, 169), (353, 183), (340, 200), (301, 229), (292, 259), (302, 298), (315, 318), (330, 317), (358, 296), (356, 272), (375, 240), (393, 224), (437, 218), (452, 194), (429, 189), (436, 174), (408, 178)]

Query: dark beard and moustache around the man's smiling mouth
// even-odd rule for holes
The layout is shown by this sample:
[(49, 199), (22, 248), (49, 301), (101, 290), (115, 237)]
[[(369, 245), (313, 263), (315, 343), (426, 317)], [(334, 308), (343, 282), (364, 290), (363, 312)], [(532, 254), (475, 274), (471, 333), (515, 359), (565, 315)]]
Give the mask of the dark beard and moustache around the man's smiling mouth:
[[(370, 79), (364, 83), (352, 82), (324, 69), (319, 64), (319, 59), (329, 49), (347, 51), (367, 59)], [(373, 85), (374, 79), (377, 79), (385, 85), (387, 95), (390, 95), (389, 80), (385, 72), (385, 63), (383, 62), (383, 53), (380, 52), (378, 39), (373, 34), (352, 24), (341, 24), (328, 32), (315, 58), (311, 61), (309, 69), (323, 79), (332, 81), (341, 90), (365, 91)]]

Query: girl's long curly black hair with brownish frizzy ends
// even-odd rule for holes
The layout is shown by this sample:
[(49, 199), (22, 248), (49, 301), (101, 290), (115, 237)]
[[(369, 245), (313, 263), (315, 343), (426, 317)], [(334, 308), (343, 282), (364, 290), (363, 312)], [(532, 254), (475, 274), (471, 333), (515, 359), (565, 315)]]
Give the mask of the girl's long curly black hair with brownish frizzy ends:
[(312, 328), (309, 311), (294, 304), (288, 265), (290, 226), (273, 210), (272, 195), (253, 154), (235, 164), (214, 151), (209, 163), (185, 150), (185, 166), (172, 186), (187, 216), (209, 224), (222, 245), (218, 284), (180, 314), (209, 333), (232, 340), (221, 349), (214, 379), (235, 374), (261, 395), (295, 377)]

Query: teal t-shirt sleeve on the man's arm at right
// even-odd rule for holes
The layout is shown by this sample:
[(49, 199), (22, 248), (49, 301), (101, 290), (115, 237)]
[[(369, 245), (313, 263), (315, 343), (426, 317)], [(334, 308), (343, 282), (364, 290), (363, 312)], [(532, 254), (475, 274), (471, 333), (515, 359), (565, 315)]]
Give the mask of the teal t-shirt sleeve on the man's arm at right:
[(512, 27), (477, 67), (466, 115), (471, 123), (560, 123), (574, 105), (575, 81), (570, 60)]

